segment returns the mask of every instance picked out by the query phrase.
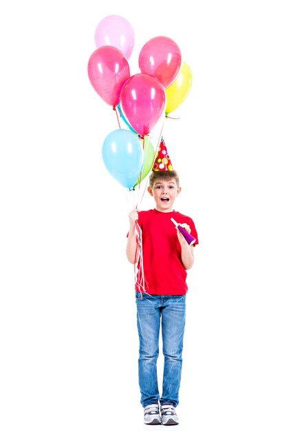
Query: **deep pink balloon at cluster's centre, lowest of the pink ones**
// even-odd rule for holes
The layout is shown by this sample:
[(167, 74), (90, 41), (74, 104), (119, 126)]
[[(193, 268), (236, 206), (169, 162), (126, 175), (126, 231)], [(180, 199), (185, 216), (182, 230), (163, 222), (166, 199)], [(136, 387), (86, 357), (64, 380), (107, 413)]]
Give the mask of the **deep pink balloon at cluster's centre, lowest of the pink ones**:
[(151, 75), (135, 74), (122, 86), (120, 105), (133, 129), (147, 135), (165, 109), (164, 86)]

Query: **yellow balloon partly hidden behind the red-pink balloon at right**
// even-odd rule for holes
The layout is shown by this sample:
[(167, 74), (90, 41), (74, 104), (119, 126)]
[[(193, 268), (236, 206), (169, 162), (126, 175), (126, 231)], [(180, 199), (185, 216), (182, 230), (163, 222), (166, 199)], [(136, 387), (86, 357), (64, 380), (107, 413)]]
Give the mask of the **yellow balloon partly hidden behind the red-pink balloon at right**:
[(180, 72), (175, 81), (166, 88), (166, 109), (165, 114), (175, 111), (184, 102), (190, 92), (193, 83), (192, 71), (189, 65), (183, 61)]

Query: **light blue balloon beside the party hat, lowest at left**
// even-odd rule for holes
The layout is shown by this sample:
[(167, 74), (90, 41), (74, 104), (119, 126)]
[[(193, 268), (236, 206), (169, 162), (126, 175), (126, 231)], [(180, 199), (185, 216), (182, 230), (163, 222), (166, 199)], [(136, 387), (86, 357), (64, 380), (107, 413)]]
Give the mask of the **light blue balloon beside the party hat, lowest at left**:
[(109, 174), (123, 187), (131, 189), (144, 161), (144, 151), (138, 136), (126, 129), (113, 130), (103, 142), (102, 160)]

